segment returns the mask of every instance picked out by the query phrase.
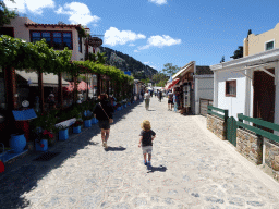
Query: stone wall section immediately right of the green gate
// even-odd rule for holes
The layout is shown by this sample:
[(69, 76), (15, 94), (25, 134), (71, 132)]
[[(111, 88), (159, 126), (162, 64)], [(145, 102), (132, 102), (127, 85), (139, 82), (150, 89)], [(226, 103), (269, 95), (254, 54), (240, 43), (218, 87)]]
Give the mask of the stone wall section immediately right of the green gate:
[(263, 137), (255, 133), (238, 128), (236, 150), (256, 164), (263, 163)]

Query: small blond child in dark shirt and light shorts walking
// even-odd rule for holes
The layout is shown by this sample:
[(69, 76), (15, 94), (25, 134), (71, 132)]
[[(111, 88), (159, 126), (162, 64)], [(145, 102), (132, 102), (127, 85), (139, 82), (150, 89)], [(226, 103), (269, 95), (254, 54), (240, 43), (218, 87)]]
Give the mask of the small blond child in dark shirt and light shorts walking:
[[(142, 123), (142, 132), (140, 134), (140, 144), (138, 147), (142, 146), (143, 155), (144, 155), (144, 164), (147, 165), (148, 169), (151, 167), (151, 151), (153, 151), (153, 140), (156, 137), (156, 133), (151, 130), (151, 124), (149, 121), (144, 120)], [(146, 153), (148, 153), (148, 161), (146, 159)]]

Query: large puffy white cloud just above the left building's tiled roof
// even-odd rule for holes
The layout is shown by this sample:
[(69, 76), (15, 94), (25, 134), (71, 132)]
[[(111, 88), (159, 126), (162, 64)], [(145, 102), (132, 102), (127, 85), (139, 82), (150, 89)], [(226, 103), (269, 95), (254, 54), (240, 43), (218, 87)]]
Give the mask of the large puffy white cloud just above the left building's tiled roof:
[(71, 24), (87, 25), (95, 23), (94, 26), (97, 26), (96, 23), (100, 20), (100, 17), (92, 15), (86, 4), (80, 2), (65, 3), (64, 7), (59, 7), (56, 13), (70, 15), (69, 21)]

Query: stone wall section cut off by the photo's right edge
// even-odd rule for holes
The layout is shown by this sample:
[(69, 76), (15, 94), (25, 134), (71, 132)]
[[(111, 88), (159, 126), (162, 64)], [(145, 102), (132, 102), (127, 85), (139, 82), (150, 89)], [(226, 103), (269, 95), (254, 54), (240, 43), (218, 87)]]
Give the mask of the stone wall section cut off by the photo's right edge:
[(265, 165), (269, 168), (268, 173), (279, 181), (279, 144), (264, 138)]

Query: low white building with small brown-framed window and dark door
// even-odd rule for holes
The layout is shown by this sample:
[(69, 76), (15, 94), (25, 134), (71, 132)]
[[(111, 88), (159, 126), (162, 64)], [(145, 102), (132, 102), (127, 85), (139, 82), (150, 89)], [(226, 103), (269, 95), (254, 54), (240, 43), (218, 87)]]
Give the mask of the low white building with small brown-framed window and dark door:
[(214, 106), (279, 123), (279, 48), (211, 65)]

